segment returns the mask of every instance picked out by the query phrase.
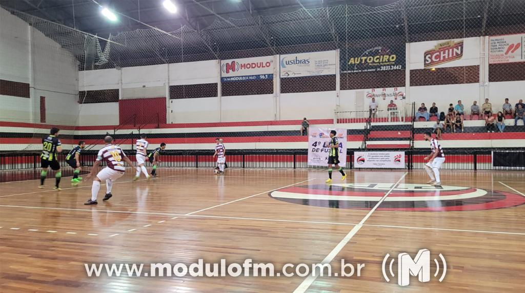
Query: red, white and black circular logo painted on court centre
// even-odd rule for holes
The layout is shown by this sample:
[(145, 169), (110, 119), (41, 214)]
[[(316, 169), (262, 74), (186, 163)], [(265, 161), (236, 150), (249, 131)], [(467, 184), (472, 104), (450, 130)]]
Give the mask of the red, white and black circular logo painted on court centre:
[[(272, 191), (269, 196), (290, 203), (317, 207), (370, 210), (394, 183), (341, 183), (308, 185)], [(525, 203), (519, 194), (460, 186), (434, 187), (400, 183), (377, 210), (475, 211), (516, 207)]]

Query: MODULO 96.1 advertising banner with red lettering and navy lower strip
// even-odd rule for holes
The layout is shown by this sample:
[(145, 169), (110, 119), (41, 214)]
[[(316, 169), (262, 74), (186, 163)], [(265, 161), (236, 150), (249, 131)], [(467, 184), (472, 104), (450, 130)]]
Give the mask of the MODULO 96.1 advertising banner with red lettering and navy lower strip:
[(274, 78), (274, 57), (220, 60), (220, 81), (250, 81)]

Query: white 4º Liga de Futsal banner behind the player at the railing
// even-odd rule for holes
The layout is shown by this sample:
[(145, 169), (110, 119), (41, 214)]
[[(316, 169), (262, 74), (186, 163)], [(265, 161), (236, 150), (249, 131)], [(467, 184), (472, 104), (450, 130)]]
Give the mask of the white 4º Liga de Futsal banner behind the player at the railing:
[(330, 148), (330, 131), (335, 130), (339, 142), (339, 166), (346, 164), (346, 129), (342, 128), (308, 128), (308, 165), (328, 166), (328, 154)]

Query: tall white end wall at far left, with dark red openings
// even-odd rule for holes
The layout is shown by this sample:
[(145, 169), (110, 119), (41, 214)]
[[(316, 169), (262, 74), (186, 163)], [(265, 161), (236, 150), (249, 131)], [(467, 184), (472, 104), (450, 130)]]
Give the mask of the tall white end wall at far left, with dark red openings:
[(30, 98), (0, 96), (0, 121), (75, 125), (78, 68), (72, 54), (25, 21), (0, 8), (0, 79), (29, 83)]

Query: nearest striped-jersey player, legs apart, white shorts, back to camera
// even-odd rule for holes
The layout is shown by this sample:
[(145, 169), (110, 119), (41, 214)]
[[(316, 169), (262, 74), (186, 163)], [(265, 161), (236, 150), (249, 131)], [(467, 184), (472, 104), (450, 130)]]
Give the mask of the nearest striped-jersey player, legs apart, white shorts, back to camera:
[(91, 169), (91, 172), (86, 176), (86, 178), (90, 178), (93, 176), (93, 174), (95, 174), (95, 170), (98, 170), (101, 161), (105, 161), (107, 167), (100, 170), (100, 172), (98, 172), (97, 174), (97, 177), (93, 178), (93, 186), (91, 187), (91, 199), (89, 199), (84, 204), (98, 203), (97, 194), (100, 190), (100, 181), (102, 180), (106, 181), (106, 196), (103, 200), (110, 199), (113, 196), (111, 194), (113, 181), (119, 179), (122, 175), (124, 175), (124, 171), (126, 170), (124, 168), (122, 160), (126, 161), (128, 165), (133, 166), (131, 160), (126, 156), (126, 154), (124, 154), (124, 151), (120, 147), (113, 145), (113, 137), (109, 135), (104, 137), (104, 143), (106, 143), (106, 146), (99, 150), (97, 160), (95, 161), (95, 164), (93, 164), (93, 168)]

